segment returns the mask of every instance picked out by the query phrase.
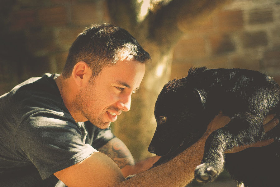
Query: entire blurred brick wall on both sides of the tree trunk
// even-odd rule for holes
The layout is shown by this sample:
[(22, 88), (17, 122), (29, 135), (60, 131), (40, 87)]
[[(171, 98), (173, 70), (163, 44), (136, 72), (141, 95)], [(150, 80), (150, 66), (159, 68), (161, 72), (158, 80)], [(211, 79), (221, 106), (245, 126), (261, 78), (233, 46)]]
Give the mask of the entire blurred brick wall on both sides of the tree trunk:
[[(103, 0), (3, 0), (0, 94), (30, 76), (60, 72), (68, 49), (91, 24), (110, 22)], [(180, 22), (171, 78), (192, 66), (246, 68), (280, 82), (280, 1), (232, 0), (194, 28)]]

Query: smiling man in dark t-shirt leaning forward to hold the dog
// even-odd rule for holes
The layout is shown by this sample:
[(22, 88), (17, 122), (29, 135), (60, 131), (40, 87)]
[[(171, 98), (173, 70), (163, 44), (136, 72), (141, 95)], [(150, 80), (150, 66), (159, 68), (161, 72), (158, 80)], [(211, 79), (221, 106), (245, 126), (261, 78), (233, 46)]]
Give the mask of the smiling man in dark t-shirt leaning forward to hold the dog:
[[(131, 94), (139, 89), (149, 60), (126, 30), (94, 25), (74, 41), (61, 75), (31, 78), (2, 95), (0, 186), (62, 185), (58, 179), (67, 186), (189, 183), (206, 138), (228, 122), (226, 116), (212, 121), (205, 135), (186, 151), (150, 170), (159, 157), (135, 164), (109, 128), (122, 111), (129, 111)], [(270, 121), (265, 128), (274, 125)], [(124, 176), (135, 173), (139, 174), (125, 180)]]

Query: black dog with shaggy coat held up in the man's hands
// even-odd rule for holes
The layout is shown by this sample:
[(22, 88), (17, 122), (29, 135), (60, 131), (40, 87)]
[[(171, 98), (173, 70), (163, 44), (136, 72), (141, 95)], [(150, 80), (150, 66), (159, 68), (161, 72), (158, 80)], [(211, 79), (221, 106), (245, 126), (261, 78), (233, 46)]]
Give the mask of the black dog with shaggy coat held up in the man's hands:
[[(269, 76), (245, 69), (190, 69), (187, 77), (169, 81), (160, 92), (154, 115), (157, 128), (149, 151), (159, 156), (154, 166), (170, 160), (194, 144), (221, 111), (231, 121), (206, 140), (199, 182), (213, 181), (226, 170), (248, 187), (280, 186), (280, 126), (264, 132), (269, 113), (280, 117), (280, 88)], [(234, 146), (274, 138), (260, 148), (224, 154)]]

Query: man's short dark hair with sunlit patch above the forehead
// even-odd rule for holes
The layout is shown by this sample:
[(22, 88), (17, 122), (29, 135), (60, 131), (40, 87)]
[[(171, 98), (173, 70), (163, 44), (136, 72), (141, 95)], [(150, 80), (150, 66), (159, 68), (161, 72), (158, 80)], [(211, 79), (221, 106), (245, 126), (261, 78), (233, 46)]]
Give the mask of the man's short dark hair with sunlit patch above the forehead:
[(121, 50), (140, 63), (151, 59), (149, 53), (125, 29), (106, 23), (92, 25), (80, 33), (72, 44), (62, 75), (69, 78), (75, 64), (83, 61), (91, 68), (95, 78), (104, 67), (116, 64)]

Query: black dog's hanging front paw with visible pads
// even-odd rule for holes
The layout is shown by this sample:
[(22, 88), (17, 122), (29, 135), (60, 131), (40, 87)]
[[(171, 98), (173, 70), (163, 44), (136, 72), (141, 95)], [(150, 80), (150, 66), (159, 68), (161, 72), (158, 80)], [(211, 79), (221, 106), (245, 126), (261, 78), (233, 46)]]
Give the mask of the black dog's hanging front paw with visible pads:
[(200, 164), (195, 168), (194, 177), (197, 182), (212, 182), (218, 176), (218, 171), (209, 164)]

